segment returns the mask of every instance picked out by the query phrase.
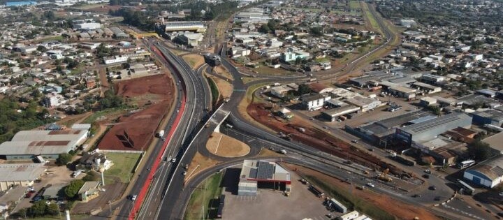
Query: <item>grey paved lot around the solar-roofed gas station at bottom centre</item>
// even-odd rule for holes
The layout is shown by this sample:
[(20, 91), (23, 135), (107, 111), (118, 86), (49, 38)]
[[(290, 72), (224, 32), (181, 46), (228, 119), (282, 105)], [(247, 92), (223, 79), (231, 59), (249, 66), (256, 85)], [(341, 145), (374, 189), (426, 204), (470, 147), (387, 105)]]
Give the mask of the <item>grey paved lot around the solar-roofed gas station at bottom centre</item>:
[[(323, 199), (309, 191), (295, 173), (291, 173), (291, 179), (290, 196), (272, 189), (259, 189), (258, 196), (238, 196), (224, 189), (226, 205), (222, 219), (328, 219), (326, 214), (330, 212)], [(338, 216), (337, 212), (333, 215)]]

